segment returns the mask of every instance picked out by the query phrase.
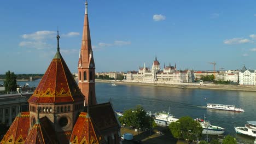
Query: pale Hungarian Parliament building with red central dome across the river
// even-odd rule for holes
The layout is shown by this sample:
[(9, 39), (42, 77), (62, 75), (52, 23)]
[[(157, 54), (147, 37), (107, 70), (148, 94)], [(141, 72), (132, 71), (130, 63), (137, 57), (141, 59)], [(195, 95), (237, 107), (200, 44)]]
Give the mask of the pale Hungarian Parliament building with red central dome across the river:
[(161, 69), (158, 59), (155, 57), (152, 69), (147, 68), (145, 63), (144, 67), (139, 67), (138, 71), (128, 71), (126, 81), (130, 82), (145, 82), (145, 83), (183, 83), (194, 82), (194, 71), (192, 70), (177, 70), (176, 64)]

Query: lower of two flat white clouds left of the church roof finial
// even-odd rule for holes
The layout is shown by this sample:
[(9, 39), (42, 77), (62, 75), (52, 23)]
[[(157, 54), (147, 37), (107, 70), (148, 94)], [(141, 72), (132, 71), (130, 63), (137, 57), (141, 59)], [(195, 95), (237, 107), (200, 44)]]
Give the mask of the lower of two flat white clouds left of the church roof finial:
[(35, 48), (37, 50), (53, 47), (50, 44), (44, 43), (42, 41), (21, 41), (19, 46)]

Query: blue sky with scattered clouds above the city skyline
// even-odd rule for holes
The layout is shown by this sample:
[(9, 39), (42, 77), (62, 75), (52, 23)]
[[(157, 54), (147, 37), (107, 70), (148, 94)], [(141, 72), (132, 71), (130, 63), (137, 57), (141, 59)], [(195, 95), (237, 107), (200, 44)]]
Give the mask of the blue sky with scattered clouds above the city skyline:
[[(0, 74), (44, 73), (60, 48), (77, 71), (84, 1), (3, 1)], [(256, 1), (88, 1), (96, 71), (137, 70), (155, 55), (178, 69), (256, 69)]]

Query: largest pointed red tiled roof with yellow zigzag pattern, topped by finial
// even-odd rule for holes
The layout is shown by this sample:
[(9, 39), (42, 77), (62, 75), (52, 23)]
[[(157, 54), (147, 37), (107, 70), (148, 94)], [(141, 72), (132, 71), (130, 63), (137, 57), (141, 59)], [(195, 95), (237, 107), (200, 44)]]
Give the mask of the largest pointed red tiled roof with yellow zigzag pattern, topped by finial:
[(29, 103), (62, 103), (84, 100), (77, 82), (59, 51), (51, 61)]

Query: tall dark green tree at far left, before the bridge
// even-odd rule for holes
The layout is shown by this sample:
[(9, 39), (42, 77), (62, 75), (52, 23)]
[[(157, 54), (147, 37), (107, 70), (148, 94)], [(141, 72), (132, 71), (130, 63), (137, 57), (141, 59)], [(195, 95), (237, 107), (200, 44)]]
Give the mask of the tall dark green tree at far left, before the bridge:
[(17, 82), (16, 82), (16, 75), (13, 72), (8, 70), (6, 73), (6, 78), (4, 81), (5, 93), (9, 93), (11, 91), (16, 91)]

